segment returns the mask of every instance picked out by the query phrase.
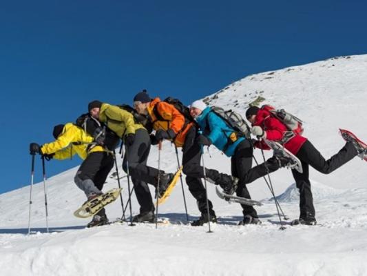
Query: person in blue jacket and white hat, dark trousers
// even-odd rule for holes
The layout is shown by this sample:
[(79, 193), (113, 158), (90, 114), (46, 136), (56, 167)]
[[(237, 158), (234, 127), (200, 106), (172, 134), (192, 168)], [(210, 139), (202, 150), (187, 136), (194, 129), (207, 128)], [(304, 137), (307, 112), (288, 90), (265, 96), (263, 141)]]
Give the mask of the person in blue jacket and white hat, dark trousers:
[[(252, 167), (253, 147), (251, 141), (245, 137), (236, 135), (233, 128), (231, 128), (222, 118), (211, 111), (203, 101), (198, 100), (191, 103), (190, 115), (197, 121), (202, 135), (197, 139), (197, 143), (210, 146), (213, 144), (219, 150), (222, 150), (227, 157), (231, 157), (231, 174), (232, 177), (240, 179), (238, 186), (233, 187), (233, 190), (224, 190), (224, 193), (234, 193), (239, 197), (250, 199), (250, 193), (246, 184), (255, 181), (259, 177), (273, 172), (284, 166), (280, 164), (276, 157), (271, 157), (261, 165)], [(210, 176), (207, 177), (210, 180)], [(243, 221), (240, 224), (260, 224), (258, 213), (253, 206), (242, 205), (242, 213), (244, 215)]]

